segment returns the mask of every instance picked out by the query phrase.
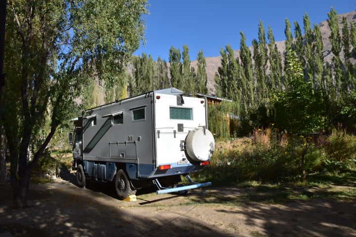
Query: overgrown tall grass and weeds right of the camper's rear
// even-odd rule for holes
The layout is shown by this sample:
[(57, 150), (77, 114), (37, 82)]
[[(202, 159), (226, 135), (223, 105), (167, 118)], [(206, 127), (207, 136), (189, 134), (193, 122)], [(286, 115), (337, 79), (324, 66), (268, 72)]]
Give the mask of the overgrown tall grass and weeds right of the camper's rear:
[[(339, 143), (340, 136), (343, 142)], [(346, 138), (347, 137), (347, 138)], [(253, 139), (239, 138), (234, 141), (218, 142), (211, 159), (211, 164), (202, 172), (193, 174), (200, 181), (212, 181), (215, 184), (230, 185), (243, 181), (269, 183), (290, 182), (300, 180), (300, 159), (304, 150), (302, 137), (280, 136), (274, 129), (257, 129)], [(345, 146), (347, 143), (352, 146)], [(331, 144), (332, 149), (331, 149)], [(356, 137), (347, 135), (342, 130), (334, 129), (325, 143), (312, 144), (305, 156), (305, 168), (310, 173), (309, 182), (321, 180), (320, 176), (334, 178), (345, 172), (355, 170)], [(334, 158), (335, 154), (343, 154), (348, 160)], [(346, 155), (348, 154), (348, 155)], [(330, 173), (331, 172), (331, 173)], [(353, 171), (350, 177), (353, 177)], [(316, 177), (317, 176), (317, 177)]]

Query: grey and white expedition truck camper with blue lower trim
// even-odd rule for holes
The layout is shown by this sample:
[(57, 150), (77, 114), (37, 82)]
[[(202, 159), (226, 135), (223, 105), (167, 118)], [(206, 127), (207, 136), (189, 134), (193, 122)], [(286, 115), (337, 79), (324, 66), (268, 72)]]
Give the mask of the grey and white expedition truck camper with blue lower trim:
[[(210, 164), (214, 152), (206, 98), (168, 88), (98, 106), (71, 120), (72, 168), (81, 187), (91, 180), (113, 181), (119, 199), (125, 199), (152, 182), (157, 194), (211, 185), (189, 177)], [(181, 175), (190, 185), (179, 187)]]

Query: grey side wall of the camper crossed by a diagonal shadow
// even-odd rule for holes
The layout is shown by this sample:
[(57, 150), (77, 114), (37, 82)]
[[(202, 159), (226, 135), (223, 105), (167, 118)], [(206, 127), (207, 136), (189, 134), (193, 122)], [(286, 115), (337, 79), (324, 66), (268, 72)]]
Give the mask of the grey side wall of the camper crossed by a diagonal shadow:
[[(139, 164), (150, 167), (142, 169), (144, 173), (139, 174), (150, 175), (154, 169), (152, 95), (153, 93), (88, 111), (86, 117), (96, 115), (96, 125), (92, 125), (90, 119), (83, 119), (84, 160), (125, 163), (139, 161)], [(139, 107), (145, 108), (145, 119), (133, 121), (132, 111)], [(123, 111), (123, 123), (112, 125), (112, 116), (107, 115), (120, 111)]]

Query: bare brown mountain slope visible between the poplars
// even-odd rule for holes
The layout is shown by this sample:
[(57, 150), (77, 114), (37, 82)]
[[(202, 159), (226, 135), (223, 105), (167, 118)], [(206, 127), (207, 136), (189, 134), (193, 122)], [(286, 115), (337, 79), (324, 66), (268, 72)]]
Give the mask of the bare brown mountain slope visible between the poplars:
[[(354, 22), (356, 24), (356, 11), (353, 12), (348, 12), (344, 14), (339, 14), (339, 23), (340, 23), (340, 34), (342, 35), (341, 29), (342, 29), (342, 19), (343, 17), (346, 17), (347, 21)], [(323, 21), (319, 24), (320, 27), (320, 32), (322, 36), (322, 41), (323, 41), (323, 54), (324, 54), (324, 62), (331, 62), (331, 59), (333, 57), (333, 53), (331, 52), (331, 43), (329, 41), (329, 36), (330, 36), (330, 28), (327, 24), (327, 21)], [(350, 27), (349, 27), (350, 28)], [(293, 30), (293, 29), (292, 29)], [(285, 45), (284, 45), (284, 40), (283, 41), (276, 41), (276, 45), (278, 48), (278, 51), (283, 55), (283, 52), (285, 50)], [(253, 48), (249, 47), (251, 53), (253, 53)], [(236, 57), (239, 55), (239, 50), (234, 50)], [(343, 59), (344, 53), (341, 53), (341, 58)], [(355, 65), (356, 60), (353, 58), (351, 62)], [(221, 64), (221, 56), (217, 57), (207, 57), (206, 58), (206, 72), (208, 76), (208, 94), (214, 95), (215, 94), (215, 81), (214, 81), (214, 76), (215, 73), (218, 72), (218, 68)], [(198, 62), (192, 61), (191, 66), (197, 69), (197, 64)]]

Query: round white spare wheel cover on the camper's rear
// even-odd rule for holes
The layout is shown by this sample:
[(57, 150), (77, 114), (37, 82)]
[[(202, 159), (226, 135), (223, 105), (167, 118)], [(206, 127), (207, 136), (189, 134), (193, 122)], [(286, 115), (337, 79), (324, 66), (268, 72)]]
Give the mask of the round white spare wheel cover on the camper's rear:
[(213, 156), (215, 141), (213, 134), (203, 128), (191, 130), (185, 138), (185, 151), (189, 158), (196, 161), (206, 161)]

